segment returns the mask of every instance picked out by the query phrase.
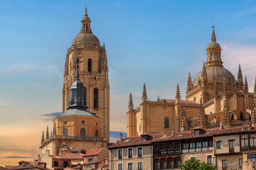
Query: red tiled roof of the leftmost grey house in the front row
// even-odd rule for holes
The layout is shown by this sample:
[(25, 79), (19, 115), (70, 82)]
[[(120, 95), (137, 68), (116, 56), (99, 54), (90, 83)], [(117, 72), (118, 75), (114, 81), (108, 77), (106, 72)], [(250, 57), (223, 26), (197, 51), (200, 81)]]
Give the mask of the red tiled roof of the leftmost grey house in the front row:
[(130, 146), (138, 146), (138, 145), (150, 145), (154, 140), (163, 137), (165, 134), (156, 134), (152, 135), (152, 138), (149, 140), (142, 140), (141, 136), (137, 137), (125, 137), (122, 141), (118, 141), (108, 147), (109, 149), (119, 148), (119, 147), (130, 147)]

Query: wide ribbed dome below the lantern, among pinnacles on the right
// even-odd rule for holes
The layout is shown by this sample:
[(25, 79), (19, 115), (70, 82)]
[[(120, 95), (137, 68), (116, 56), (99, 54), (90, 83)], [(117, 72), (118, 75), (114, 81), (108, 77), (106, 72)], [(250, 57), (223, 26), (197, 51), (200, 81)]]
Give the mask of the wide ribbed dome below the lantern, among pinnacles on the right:
[[(199, 81), (203, 81), (202, 72), (199, 72), (194, 80), (193, 86), (197, 86)], [(225, 83), (229, 83), (229, 81), (233, 81), (233, 74), (225, 69), (223, 66), (210, 65), (206, 67), (207, 81), (213, 83), (214, 77), (216, 79), (216, 83), (223, 83), (223, 79), (225, 78)]]

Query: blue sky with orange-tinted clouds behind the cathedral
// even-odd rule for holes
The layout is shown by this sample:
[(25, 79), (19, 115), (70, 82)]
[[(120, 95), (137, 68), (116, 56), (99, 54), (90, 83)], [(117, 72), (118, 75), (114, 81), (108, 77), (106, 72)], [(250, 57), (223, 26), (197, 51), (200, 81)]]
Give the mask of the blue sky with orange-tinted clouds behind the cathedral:
[(65, 57), (80, 32), (85, 6), (92, 33), (105, 42), (110, 79), (110, 130), (126, 132), (146, 83), (149, 100), (186, 99), (206, 61), (214, 23), (226, 69), (238, 64), (250, 91), (256, 75), (256, 1), (0, 0), (0, 166), (39, 153), (41, 134), (62, 111)]

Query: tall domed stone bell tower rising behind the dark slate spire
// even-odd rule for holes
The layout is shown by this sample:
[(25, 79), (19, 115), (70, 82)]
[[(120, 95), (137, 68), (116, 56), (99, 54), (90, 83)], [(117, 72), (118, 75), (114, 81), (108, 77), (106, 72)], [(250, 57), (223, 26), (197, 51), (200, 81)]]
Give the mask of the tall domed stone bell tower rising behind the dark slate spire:
[(65, 59), (63, 81), (63, 113), (67, 111), (70, 86), (75, 81), (75, 61), (79, 60), (80, 81), (85, 86), (87, 111), (102, 118), (103, 137), (110, 140), (110, 85), (108, 79), (107, 54), (105, 44), (100, 46), (98, 38), (92, 34), (90, 18), (85, 8), (82, 28), (68, 48)]

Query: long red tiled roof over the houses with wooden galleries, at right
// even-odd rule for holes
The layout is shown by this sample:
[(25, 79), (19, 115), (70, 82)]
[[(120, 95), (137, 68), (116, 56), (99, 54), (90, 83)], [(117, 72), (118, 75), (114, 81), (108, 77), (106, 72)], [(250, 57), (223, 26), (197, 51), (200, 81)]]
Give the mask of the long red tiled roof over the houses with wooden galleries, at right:
[(212, 137), (217, 135), (232, 135), (236, 133), (244, 132), (256, 132), (256, 130), (243, 131), (242, 128), (228, 128), (228, 129), (210, 129), (205, 130), (202, 134), (195, 135), (195, 132), (186, 131), (186, 132), (176, 132), (173, 136), (166, 137), (164, 139), (155, 140), (154, 142), (163, 142), (171, 140), (186, 140), (186, 139), (195, 139), (201, 137)]

